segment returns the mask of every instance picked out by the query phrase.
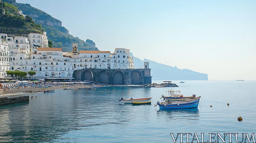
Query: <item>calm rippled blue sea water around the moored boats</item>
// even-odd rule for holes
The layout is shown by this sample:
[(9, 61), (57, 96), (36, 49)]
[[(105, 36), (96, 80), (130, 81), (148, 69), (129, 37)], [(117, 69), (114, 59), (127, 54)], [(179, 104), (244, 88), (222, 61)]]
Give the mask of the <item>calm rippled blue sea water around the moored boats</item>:
[[(173, 81), (180, 86), (174, 88), (115, 87), (113, 91), (111, 87), (31, 94), (37, 98), (0, 106), (0, 142), (173, 142), (170, 133), (255, 132), (256, 81), (179, 82)], [(198, 108), (154, 107), (168, 89), (202, 96)], [(118, 102), (121, 97), (153, 97), (153, 104), (124, 104)], [(237, 121), (239, 116), (242, 122)]]

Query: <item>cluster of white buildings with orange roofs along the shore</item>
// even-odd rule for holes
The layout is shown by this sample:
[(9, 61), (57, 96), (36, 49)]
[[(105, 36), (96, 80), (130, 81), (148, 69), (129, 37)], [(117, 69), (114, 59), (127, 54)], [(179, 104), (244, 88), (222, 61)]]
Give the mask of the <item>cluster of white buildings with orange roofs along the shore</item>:
[[(36, 79), (71, 80), (73, 72), (81, 69), (133, 69), (130, 50), (116, 48), (110, 51), (78, 50), (73, 43), (72, 51), (49, 48), (46, 32), (28, 36), (0, 34), (0, 78), (9, 78), (6, 71), (34, 71)], [(28, 78), (32, 78), (29, 74)]]

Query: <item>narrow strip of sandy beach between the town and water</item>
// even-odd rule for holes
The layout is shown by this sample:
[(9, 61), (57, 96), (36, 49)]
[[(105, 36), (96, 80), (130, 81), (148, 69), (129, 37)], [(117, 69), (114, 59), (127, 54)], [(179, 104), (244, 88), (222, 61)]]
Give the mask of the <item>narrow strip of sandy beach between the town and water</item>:
[[(69, 87), (90, 87), (90, 86), (87, 86), (87, 85), (76, 85), (76, 86), (68, 86)], [(52, 90), (52, 89), (62, 89), (62, 88), (67, 88), (67, 87), (62, 87), (62, 86), (56, 86), (56, 87), (48, 87), (48, 88), (45, 88), (44, 90)], [(16, 94), (16, 93), (34, 93), (34, 92), (43, 92), (44, 90), (42, 90), (42, 88), (11, 88), (11, 90), (5, 90), (4, 94)], [(27, 91), (27, 92), (26, 92)], [(29, 92), (28, 92), (29, 91)], [(31, 91), (31, 92), (30, 92)]]

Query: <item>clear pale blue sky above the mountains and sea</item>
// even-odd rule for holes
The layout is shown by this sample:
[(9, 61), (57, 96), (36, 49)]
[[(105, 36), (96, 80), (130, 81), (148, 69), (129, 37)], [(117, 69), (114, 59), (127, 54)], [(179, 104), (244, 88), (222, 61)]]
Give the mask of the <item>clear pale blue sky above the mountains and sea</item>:
[[(256, 1), (16, 0), (61, 20), (100, 50), (208, 74), (256, 80)], [(150, 64), (150, 63), (149, 63)]]

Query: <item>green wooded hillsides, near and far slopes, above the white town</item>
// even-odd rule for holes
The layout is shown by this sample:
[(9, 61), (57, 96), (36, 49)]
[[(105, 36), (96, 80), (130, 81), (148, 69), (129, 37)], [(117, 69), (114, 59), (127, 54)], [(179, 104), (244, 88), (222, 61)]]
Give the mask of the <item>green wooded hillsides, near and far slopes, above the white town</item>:
[[(1, 0), (0, 0), (1, 1)], [(87, 39), (86, 41), (74, 37), (68, 33), (68, 30), (63, 27), (61, 21), (53, 18), (51, 15), (44, 11), (41, 11), (30, 4), (20, 4), (16, 3), (15, 0), (2, 0), (8, 3), (8, 11), (12, 11), (13, 19), (18, 16), (21, 22), (24, 24), (18, 24), (12, 19), (5, 19), (5, 22), (0, 20), (0, 28), (11, 29), (12, 27), (19, 27), (20, 31), (27, 31), (27, 33), (46, 31), (48, 39), (52, 42), (50, 44), (52, 47), (62, 47), (63, 51), (72, 51), (72, 44), (78, 43), (79, 50), (98, 50), (95, 47), (95, 43), (92, 40)], [(6, 3), (6, 4), (7, 4)], [(17, 7), (15, 6), (17, 5)], [(27, 15), (26, 18), (18, 15), (18, 10), (23, 11), (23, 14)], [(32, 20), (30, 19), (32, 18)], [(17, 18), (16, 18), (17, 19)], [(18, 26), (17, 26), (18, 24)], [(8, 28), (6, 28), (9, 26)], [(22, 29), (23, 28), (23, 29)], [(17, 30), (18, 28), (13, 28), (11, 30)]]

